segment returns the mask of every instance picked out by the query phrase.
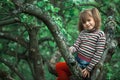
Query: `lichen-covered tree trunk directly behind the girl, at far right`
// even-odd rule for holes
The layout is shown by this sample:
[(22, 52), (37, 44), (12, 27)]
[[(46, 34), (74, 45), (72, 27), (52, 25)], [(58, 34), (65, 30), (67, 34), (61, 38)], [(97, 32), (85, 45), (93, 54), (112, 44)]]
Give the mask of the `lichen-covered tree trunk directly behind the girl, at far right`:
[(100, 63), (95, 67), (94, 72), (92, 74), (92, 80), (105, 80), (106, 79), (106, 70), (104, 66), (106, 63), (109, 63), (112, 55), (114, 54), (114, 50), (118, 45), (117, 40), (115, 40), (115, 30), (116, 30), (116, 23), (113, 17), (109, 16), (105, 22), (105, 35), (106, 35), (106, 48), (102, 56), (102, 60)]

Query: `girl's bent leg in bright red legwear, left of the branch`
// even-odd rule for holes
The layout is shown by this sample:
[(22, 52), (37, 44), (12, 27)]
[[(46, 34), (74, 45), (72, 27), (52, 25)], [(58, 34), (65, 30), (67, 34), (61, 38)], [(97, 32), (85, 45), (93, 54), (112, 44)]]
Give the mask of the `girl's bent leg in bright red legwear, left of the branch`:
[(56, 72), (58, 74), (57, 80), (69, 80), (71, 72), (65, 62), (59, 62), (56, 64)]

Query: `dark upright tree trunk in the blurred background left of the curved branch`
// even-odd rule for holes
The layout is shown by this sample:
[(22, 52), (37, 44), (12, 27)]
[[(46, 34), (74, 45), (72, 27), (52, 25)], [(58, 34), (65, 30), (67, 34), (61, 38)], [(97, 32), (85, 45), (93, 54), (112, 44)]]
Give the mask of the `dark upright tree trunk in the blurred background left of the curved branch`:
[(29, 30), (29, 60), (33, 64), (34, 80), (45, 80), (42, 57), (38, 49), (37, 27), (30, 26)]

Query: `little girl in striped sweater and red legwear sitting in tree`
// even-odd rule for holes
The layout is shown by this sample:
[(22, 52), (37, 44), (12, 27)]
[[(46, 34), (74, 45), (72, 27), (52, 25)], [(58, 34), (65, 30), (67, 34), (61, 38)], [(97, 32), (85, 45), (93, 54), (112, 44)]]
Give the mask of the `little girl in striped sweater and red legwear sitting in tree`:
[[(105, 34), (100, 30), (101, 17), (98, 9), (84, 10), (79, 17), (78, 39), (69, 48), (71, 53), (77, 53), (75, 57), (82, 68), (83, 80), (90, 80), (90, 72), (100, 61), (105, 46)], [(56, 64), (57, 80), (70, 80), (71, 72), (65, 62)]]

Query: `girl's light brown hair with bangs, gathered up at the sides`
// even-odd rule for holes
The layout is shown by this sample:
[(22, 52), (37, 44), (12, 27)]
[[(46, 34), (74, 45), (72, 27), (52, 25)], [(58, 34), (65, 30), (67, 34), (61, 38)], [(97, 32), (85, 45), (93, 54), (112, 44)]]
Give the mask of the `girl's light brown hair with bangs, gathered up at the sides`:
[(97, 8), (86, 9), (82, 11), (79, 15), (78, 29), (79, 31), (83, 30), (83, 23), (86, 22), (87, 17), (93, 17), (95, 21), (95, 29), (99, 29), (101, 26), (101, 16)]

